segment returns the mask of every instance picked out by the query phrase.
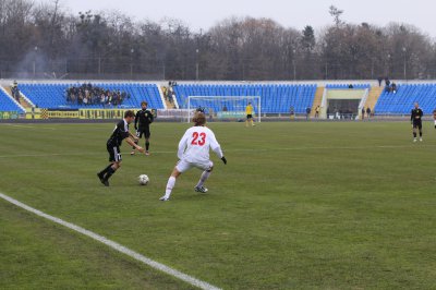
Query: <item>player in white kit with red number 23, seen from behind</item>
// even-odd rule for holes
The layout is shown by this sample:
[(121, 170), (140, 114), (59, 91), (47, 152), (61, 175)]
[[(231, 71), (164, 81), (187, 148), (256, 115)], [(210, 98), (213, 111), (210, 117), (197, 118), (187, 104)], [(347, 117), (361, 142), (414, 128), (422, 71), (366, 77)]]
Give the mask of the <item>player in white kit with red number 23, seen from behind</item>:
[(222, 154), (221, 147), (219, 146), (214, 132), (206, 128), (206, 116), (203, 112), (195, 112), (193, 118), (194, 126), (186, 130), (183, 137), (179, 142), (179, 162), (172, 170), (171, 177), (168, 179), (167, 190), (165, 195), (160, 197), (160, 201), (167, 202), (170, 200), (171, 191), (175, 185), (177, 178), (183, 172), (195, 167), (203, 170), (202, 177), (197, 185), (195, 185), (196, 192), (207, 192), (207, 189), (203, 186), (206, 180), (209, 178), (214, 168), (213, 161), (209, 159), (209, 148), (211, 148), (218, 157), (227, 164), (227, 159)]

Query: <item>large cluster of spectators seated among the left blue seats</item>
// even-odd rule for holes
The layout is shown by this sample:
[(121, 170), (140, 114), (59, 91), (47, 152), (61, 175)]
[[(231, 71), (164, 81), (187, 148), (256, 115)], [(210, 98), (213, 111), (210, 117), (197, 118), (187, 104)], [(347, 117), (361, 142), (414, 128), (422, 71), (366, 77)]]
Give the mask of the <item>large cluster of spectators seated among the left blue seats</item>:
[(102, 106), (120, 106), (124, 99), (130, 98), (130, 94), (125, 92), (110, 90), (92, 84), (83, 84), (81, 86), (72, 86), (65, 90), (66, 102), (77, 104), (80, 106), (102, 105)]

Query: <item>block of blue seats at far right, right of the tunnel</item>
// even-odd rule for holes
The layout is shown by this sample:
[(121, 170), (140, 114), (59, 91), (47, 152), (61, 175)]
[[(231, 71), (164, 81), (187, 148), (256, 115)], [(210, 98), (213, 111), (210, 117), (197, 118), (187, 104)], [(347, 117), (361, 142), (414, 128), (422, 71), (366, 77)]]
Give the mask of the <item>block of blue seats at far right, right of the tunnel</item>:
[(436, 84), (403, 84), (397, 86), (396, 93), (384, 90), (374, 111), (376, 114), (405, 114), (416, 101), (424, 112), (433, 112), (436, 109)]

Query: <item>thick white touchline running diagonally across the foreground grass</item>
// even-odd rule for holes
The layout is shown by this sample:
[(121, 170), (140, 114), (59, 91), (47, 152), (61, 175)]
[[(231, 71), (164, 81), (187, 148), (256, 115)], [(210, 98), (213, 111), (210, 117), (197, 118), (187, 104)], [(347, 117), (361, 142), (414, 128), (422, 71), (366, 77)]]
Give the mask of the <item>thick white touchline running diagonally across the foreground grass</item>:
[(210, 290), (220, 289), (220, 288), (218, 288), (216, 286), (209, 285), (209, 283), (207, 283), (205, 281), (202, 281), (202, 280), (198, 280), (198, 279), (196, 279), (196, 278), (194, 278), (194, 277), (192, 277), (190, 275), (186, 275), (186, 274), (181, 273), (181, 271), (179, 271), (177, 269), (168, 267), (168, 266), (166, 266), (166, 265), (164, 265), (164, 264), (161, 264), (159, 262), (153, 261), (153, 259), (150, 259), (150, 258), (148, 258), (148, 257), (146, 257), (146, 256), (144, 256), (144, 255), (142, 255), (140, 253), (136, 253), (133, 250), (130, 250), (129, 247), (125, 247), (125, 246), (123, 246), (123, 245), (121, 245), (121, 244), (119, 244), (117, 242), (113, 242), (113, 241), (111, 241), (111, 240), (109, 240), (109, 239), (107, 239), (107, 238), (105, 238), (102, 235), (99, 235), (99, 234), (97, 234), (95, 232), (86, 230), (86, 229), (84, 229), (82, 227), (78, 227), (78, 226), (76, 226), (74, 223), (64, 221), (64, 220), (62, 220), (60, 218), (47, 215), (47, 214), (45, 214), (45, 213), (43, 213), (43, 212), (40, 212), (38, 209), (35, 209), (35, 208), (33, 208), (33, 207), (31, 207), (28, 205), (25, 205), (25, 204), (16, 201), (16, 200), (8, 196), (8, 195), (4, 195), (4, 194), (0, 193), (0, 197), (3, 198), (7, 202), (10, 202), (11, 204), (14, 204), (14, 205), (27, 210), (27, 212), (33, 213), (33, 214), (35, 214), (35, 215), (37, 215), (39, 217), (43, 217), (43, 218), (48, 219), (48, 220), (51, 220), (51, 221), (53, 221), (53, 222), (56, 222), (58, 225), (61, 225), (61, 226), (64, 226), (64, 227), (71, 229), (73, 231), (76, 231), (78, 233), (87, 235), (87, 237), (89, 237), (89, 238), (92, 238), (92, 239), (94, 239), (94, 240), (96, 240), (96, 241), (98, 241), (100, 243), (104, 243), (104, 244), (112, 247), (113, 250), (116, 250), (118, 252), (121, 252), (121, 253), (123, 253), (123, 254), (125, 254), (125, 255), (128, 255), (128, 256), (130, 256), (130, 257), (132, 257), (132, 258), (134, 258), (136, 261), (140, 261), (140, 262), (150, 266), (152, 268), (155, 268), (157, 270), (166, 273), (166, 274), (168, 274), (168, 275), (170, 275), (172, 277), (175, 277), (175, 278), (178, 278), (178, 279), (180, 279), (182, 281), (185, 281), (185, 282), (187, 282), (187, 283), (190, 283), (192, 286), (198, 287), (201, 289), (208, 289), (208, 290), (209, 289)]

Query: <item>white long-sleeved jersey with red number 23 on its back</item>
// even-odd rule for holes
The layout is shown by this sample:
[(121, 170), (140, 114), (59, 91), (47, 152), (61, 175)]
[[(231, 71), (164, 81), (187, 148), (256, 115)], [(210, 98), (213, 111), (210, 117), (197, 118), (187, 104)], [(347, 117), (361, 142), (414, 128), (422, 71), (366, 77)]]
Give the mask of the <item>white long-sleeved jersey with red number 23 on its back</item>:
[(204, 164), (209, 161), (209, 148), (222, 158), (222, 150), (214, 132), (206, 126), (192, 126), (179, 142), (178, 157), (191, 164)]

